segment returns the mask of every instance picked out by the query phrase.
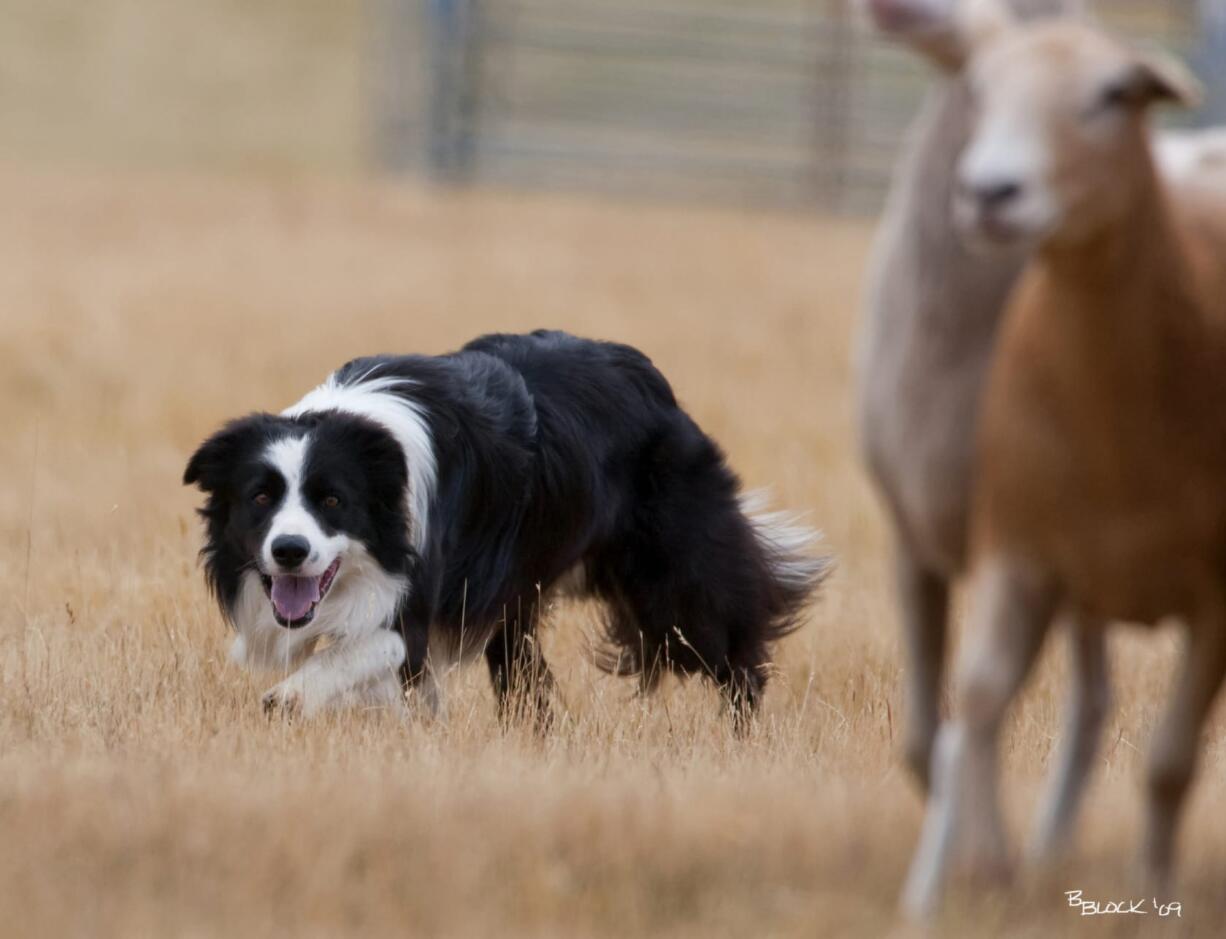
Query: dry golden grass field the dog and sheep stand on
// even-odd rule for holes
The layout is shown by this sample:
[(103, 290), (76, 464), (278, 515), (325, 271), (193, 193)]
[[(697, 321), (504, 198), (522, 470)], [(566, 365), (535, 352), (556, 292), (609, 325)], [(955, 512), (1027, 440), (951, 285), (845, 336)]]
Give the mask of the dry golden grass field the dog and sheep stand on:
[[(12, 935), (879, 935), (920, 821), (895, 759), (885, 531), (857, 466), (850, 336), (867, 229), (374, 184), (0, 174), (0, 932)], [(825, 599), (763, 726), (646, 704), (553, 615), (568, 716), (499, 729), (479, 669), (447, 726), (267, 721), (195, 564), (190, 449), (345, 358), (560, 326), (639, 344), (748, 483), (823, 526)], [(1170, 635), (1117, 641), (1118, 702), (1074, 872), (960, 895), (964, 935), (1215, 934), (1221, 726), (1178, 923), (1130, 895), (1137, 777)], [(1058, 726), (1048, 655), (1013, 722), (1015, 827)]]

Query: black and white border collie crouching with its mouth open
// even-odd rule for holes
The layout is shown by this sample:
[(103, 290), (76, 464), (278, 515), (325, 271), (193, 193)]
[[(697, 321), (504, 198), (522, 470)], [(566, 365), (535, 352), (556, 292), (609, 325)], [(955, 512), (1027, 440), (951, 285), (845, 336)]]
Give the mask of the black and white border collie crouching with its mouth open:
[(609, 671), (701, 672), (743, 718), (829, 568), (645, 355), (563, 332), (357, 359), (227, 424), (184, 483), (232, 657), (289, 672), (265, 706), (305, 713), (412, 685), (438, 710), (439, 669), (481, 652), (501, 707), (547, 720), (533, 629), (566, 586), (604, 602)]

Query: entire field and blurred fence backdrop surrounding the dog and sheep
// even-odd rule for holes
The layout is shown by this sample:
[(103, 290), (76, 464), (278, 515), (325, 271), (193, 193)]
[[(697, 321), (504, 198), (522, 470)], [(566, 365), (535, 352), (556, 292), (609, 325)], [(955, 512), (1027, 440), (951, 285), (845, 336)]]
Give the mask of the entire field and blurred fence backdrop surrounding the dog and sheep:
[[(1181, 120), (1226, 121), (1226, 0), (1098, 6), (1194, 64)], [(929, 81), (846, 0), (0, 0), (0, 937), (888, 934), (921, 803), (851, 349)], [(503, 732), (479, 668), (446, 727), (268, 722), (188, 455), (349, 357), (538, 326), (642, 348), (824, 530), (839, 569), (763, 732), (597, 672), (582, 607), (542, 637), (547, 742)], [(1011, 724), (1018, 818), (1062, 651)], [(1176, 651), (1113, 650), (1085, 879), (944, 934), (1068, 935), (1064, 889), (1129, 883)], [(1181, 935), (1226, 919), (1213, 740)]]

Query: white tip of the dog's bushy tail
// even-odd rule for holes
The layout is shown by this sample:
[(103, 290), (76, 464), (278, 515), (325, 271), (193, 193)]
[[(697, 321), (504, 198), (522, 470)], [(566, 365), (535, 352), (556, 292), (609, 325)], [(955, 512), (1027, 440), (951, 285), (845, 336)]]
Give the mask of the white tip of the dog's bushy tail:
[(752, 489), (741, 494), (741, 511), (749, 521), (766, 571), (767, 642), (793, 633), (804, 609), (834, 570), (834, 557), (820, 550), (821, 532), (802, 525), (793, 512), (772, 511), (770, 494)]

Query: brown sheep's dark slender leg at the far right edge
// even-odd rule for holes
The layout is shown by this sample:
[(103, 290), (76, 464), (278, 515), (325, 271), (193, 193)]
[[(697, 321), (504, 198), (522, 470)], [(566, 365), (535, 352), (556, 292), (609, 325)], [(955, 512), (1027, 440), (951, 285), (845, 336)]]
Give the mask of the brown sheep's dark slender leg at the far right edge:
[(1150, 744), (1149, 804), (1141, 863), (1156, 890), (1167, 889), (1175, 837), (1197, 766), (1200, 728), (1226, 674), (1226, 619), (1190, 624), (1175, 696)]

